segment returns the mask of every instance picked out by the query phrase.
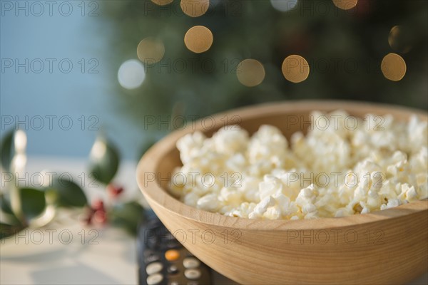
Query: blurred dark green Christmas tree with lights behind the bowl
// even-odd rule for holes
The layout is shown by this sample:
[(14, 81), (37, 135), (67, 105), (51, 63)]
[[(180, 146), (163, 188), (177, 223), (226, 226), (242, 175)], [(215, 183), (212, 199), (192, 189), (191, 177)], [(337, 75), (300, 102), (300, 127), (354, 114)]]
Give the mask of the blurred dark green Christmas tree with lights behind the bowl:
[[(306, 98), (427, 108), (425, 0), (141, 0), (102, 5), (103, 20), (113, 30), (108, 48), (112, 78), (129, 59), (140, 58), (144, 66), (138, 88), (127, 90), (116, 78), (112, 81), (119, 109), (137, 124), (146, 115), (167, 115), (178, 101), (188, 116)], [(193, 26), (208, 31), (188, 32)], [(405, 73), (399, 81), (388, 80), (381, 71), (388, 53), (406, 63), (407, 71), (395, 63), (387, 67), (398, 79)], [(301, 83), (288, 81), (282, 72), (283, 61), (293, 54), (309, 64), (309, 76)], [(255, 61), (240, 64), (248, 58)]]

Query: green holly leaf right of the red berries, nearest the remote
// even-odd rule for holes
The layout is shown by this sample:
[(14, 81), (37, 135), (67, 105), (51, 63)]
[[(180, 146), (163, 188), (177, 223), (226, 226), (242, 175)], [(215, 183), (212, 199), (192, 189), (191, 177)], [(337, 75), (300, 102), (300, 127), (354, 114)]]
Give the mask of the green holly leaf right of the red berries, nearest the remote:
[(136, 236), (138, 224), (143, 221), (143, 206), (135, 201), (116, 204), (108, 213), (108, 220), (113, 226)]

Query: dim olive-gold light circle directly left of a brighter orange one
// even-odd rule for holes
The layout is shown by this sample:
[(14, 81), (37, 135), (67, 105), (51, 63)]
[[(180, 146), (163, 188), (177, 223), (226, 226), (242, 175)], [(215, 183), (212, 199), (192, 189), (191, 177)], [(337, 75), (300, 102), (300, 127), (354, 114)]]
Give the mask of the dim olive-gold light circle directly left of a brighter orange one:
[(248, 58), (238, 64), (236, 76), (238, 81), (245, 86), (258, 86), (265, 79), (265, 68), (260, 61)]

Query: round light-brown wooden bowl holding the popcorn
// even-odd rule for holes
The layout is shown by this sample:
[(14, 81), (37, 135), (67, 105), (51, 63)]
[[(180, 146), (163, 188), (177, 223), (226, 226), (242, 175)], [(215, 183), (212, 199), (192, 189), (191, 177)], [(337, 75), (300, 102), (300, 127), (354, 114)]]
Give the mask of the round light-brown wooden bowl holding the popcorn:
[[(178, 138), (212, 135), (239, 123), (249, 133), (275, 125), (287, 138), (312, 110), (342, 109), (362, 118), (392, 114), (407, 120), (420, 110), (341, 101), (270, 103), (188, 123), (156, 143), (138, 164), (138, 185), (163, 224), (196, 257), (241, 284), (404, 284), (428, 269), (428, 200), (370, 214), (311, 220), (225, 217), (189, 207), (168, 194), (168, 175), (181, 165)], [(213, 126), (211, 126), (213, 123)], [(305, 125), (307, 128), (307, 125)]]

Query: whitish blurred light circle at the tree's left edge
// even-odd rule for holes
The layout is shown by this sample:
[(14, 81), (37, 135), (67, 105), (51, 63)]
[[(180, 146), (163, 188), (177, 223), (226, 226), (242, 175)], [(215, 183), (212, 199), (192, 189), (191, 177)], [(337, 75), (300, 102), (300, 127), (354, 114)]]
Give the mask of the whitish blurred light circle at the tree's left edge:
[(118, 70), (118, 81), (123, 88), (135, 89), (143, 84), (146, 72), (141, 61), (130, 59), (122, 63)]

